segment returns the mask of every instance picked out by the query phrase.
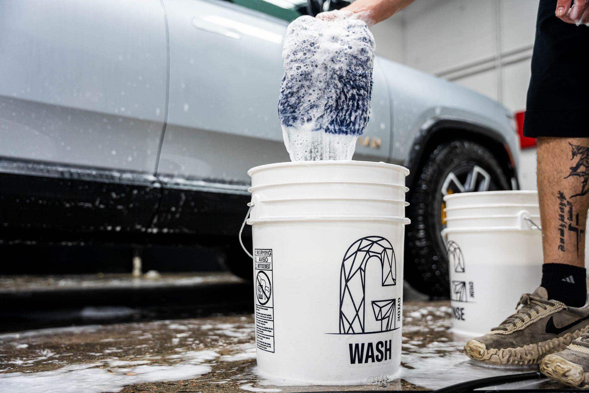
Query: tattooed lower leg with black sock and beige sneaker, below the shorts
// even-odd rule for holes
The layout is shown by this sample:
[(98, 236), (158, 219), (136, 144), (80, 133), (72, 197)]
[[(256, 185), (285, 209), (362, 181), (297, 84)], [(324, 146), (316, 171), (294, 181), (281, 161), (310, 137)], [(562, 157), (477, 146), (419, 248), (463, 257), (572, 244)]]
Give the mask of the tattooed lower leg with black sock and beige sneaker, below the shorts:
[[(466, 356), (487, 364), (537, 364), (543, 356), (564, 350), (589, 331), (589, 307), (584, 307), (589, 138), (538, 137), (537, 154), (544, 249), (542, 283), (533, 293), (521, 296), (521, 308), (514, 315), (466, 343)], [(589, 344), (589, 335), (587, 339)], [(546, 375), (561, 381), (562, 372), (550, 371), (564, 364), (561, 352), (558, 354), (549, 357), (542, 370), (548, 369)], [(584, 384), (583, 366), (565, 369), (575, 367), (581, 370), (577, 379)], [(581, 386), (581, 382), (575, 382), (575, 386)]]

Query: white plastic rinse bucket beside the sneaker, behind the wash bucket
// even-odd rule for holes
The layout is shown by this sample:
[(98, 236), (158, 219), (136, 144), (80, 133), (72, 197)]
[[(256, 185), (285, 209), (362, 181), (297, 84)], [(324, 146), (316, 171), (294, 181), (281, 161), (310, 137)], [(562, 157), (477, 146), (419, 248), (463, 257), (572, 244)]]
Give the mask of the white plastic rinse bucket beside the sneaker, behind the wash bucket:
[(448, 242), (453, 330), (482, 335), (514, 313), (521, 293), (540, 284), (540, 216), (530, 214), (538, 212), (537, 193), (452, 194), (444, 201), (451, 206), (443, 236)]

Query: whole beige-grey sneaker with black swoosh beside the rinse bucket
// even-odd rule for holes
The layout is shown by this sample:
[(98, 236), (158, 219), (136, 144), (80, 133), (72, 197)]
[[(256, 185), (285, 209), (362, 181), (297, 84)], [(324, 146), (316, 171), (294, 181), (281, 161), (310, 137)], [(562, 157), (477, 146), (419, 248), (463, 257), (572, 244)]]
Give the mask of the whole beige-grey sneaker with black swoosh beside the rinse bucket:
[(515, 309), (497, 328), (467, 342), (466, 356), (491, 365), (537, 365), (544, 356), (562, 351), (589, 331), (587, 302), (581, 308), (568, 307), (548, 300), (541, 286), (534, 293), (522, 294)]

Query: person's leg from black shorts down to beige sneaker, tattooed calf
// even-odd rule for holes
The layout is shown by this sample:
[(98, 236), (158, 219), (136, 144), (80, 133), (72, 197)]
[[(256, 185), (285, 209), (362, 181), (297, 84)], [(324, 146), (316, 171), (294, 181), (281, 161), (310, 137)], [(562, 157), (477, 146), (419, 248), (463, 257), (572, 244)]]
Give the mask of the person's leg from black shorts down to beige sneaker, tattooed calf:
[[(584, 384), (587, 369), (589, 387), (589, 335), (585, 336), (589, 332), (589, 306), (584, 306), (585, 233), (581, 232), (589, 207), (589, 74), (578, 55), (579, 48), (587, 47), (589, 29), (562, 22), (554, 15), (556, 6), (557, 0), (540, 0), (538, 6), (524, 120), (524, 136), (538, 138), (545, 262), (541, 286), (522, 294), (517, 312), (491, 332), (467, 342), (464, 352), (488, 364), (538, 364), (544, 356), (563, 351), (580, 339), (584, 341), (580, 347), (587, 354), (583, 355), (586, 362), (577, 364), (581, 369), (577, 374)], [(560, 368), (558, 359), (550, 364), (562, 371), (557, 373), (558, 378), (566, 374), (565, 369), (573, 369)], [(575, 386), (581, 386), (581, 382), (575, 382)]]

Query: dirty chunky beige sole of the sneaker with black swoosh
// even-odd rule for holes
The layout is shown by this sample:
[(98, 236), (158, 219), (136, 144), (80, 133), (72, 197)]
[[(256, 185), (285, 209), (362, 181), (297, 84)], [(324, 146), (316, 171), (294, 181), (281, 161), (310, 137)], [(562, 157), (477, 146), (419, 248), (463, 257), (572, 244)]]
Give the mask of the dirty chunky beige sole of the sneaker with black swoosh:
[(587, 330), (589, 329), (584, 328), (547, 341), (538, 342), (538, 344), (528, 344), (518, 348), (487, 349), (487, 346), (482, 342), (471, 340), (464, 346), (464, 353), (469, 358), (485, 364), (503, 366), (537, 365), (544, 356), (567, 348), (567, 345), (571, 344), (575, 338)]

